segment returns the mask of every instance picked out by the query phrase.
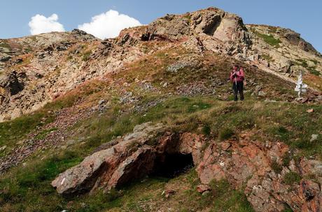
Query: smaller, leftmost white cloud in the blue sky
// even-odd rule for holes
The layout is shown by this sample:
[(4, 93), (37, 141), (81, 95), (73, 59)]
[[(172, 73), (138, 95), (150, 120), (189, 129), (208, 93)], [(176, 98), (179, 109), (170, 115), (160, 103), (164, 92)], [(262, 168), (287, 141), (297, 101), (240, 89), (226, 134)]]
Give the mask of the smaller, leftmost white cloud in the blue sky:
[(35, 15), (29, 22), (31, 35), (48, 33), (52, 31), (65, 31), (64, 26), (58, 22), (58, 15), (52, 14), (50, 17)]

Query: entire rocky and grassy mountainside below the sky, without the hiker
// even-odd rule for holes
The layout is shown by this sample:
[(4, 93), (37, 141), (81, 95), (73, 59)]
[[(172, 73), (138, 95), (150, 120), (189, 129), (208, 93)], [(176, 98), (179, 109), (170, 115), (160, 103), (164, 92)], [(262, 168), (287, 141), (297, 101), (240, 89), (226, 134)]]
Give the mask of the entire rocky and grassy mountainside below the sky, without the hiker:
[(2, 39), (0, 208), (321, 211), (321, 103), (311, 44), (218, 8)]

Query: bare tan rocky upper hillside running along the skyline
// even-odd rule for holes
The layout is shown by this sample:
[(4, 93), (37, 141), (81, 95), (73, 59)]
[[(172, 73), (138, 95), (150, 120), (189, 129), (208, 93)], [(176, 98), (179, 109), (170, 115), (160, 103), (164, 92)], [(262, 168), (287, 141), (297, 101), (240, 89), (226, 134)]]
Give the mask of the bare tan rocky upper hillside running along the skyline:
[(209, 8), (167, 15), (126, 29), (116, 39), (99, 40), (74, 30), (0, 40), (0, 121), (34, 112), (88, 79), (179, 46), (200, 57), (204, 52), (229, 56), (286, 80), (302, 70), (307, 84), (321, 89), (321, 54), (298, 33), (245, 26), (237, 15)]

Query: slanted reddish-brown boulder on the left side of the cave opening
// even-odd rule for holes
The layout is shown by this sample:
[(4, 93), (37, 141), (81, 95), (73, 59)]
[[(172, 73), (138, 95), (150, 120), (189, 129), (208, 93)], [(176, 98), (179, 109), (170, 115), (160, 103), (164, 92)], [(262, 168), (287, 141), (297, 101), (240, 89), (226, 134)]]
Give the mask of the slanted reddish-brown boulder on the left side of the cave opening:
[[(52, 186), (59, 194), (70, 195), (102, 186), (113, 188), (129, 178), (148, 174), (153, 167), (155, 151), (144, 144), (163, 129), (161, 124), (152, 126), (145, 123), (137, 126), (133, 133), (113, 141), (116, 145), (93, 153), (76, 167), (59, 174), (52, 181)], [(131, 176), (128, 176), (129, 173)]]

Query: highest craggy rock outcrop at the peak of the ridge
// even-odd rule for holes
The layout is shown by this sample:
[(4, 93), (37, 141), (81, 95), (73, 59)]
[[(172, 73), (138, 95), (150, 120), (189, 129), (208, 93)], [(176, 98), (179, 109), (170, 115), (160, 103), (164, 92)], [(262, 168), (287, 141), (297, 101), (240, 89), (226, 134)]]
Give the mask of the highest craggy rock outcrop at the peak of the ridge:
[[(140, 28), (141, 30), (144, 28)], [(166, 15), (141, 31), (141, 36), (131, 29), (125, 29), (120, 36), (128, 36), (141, 40), (179, 40), (188, 36), (208, 35), (223, 43), (251, 44), (251, 38), (247, 32), (241, 17), (226, 13), (218, 8), (207, 8), (194, 13), (184, 15)]]

